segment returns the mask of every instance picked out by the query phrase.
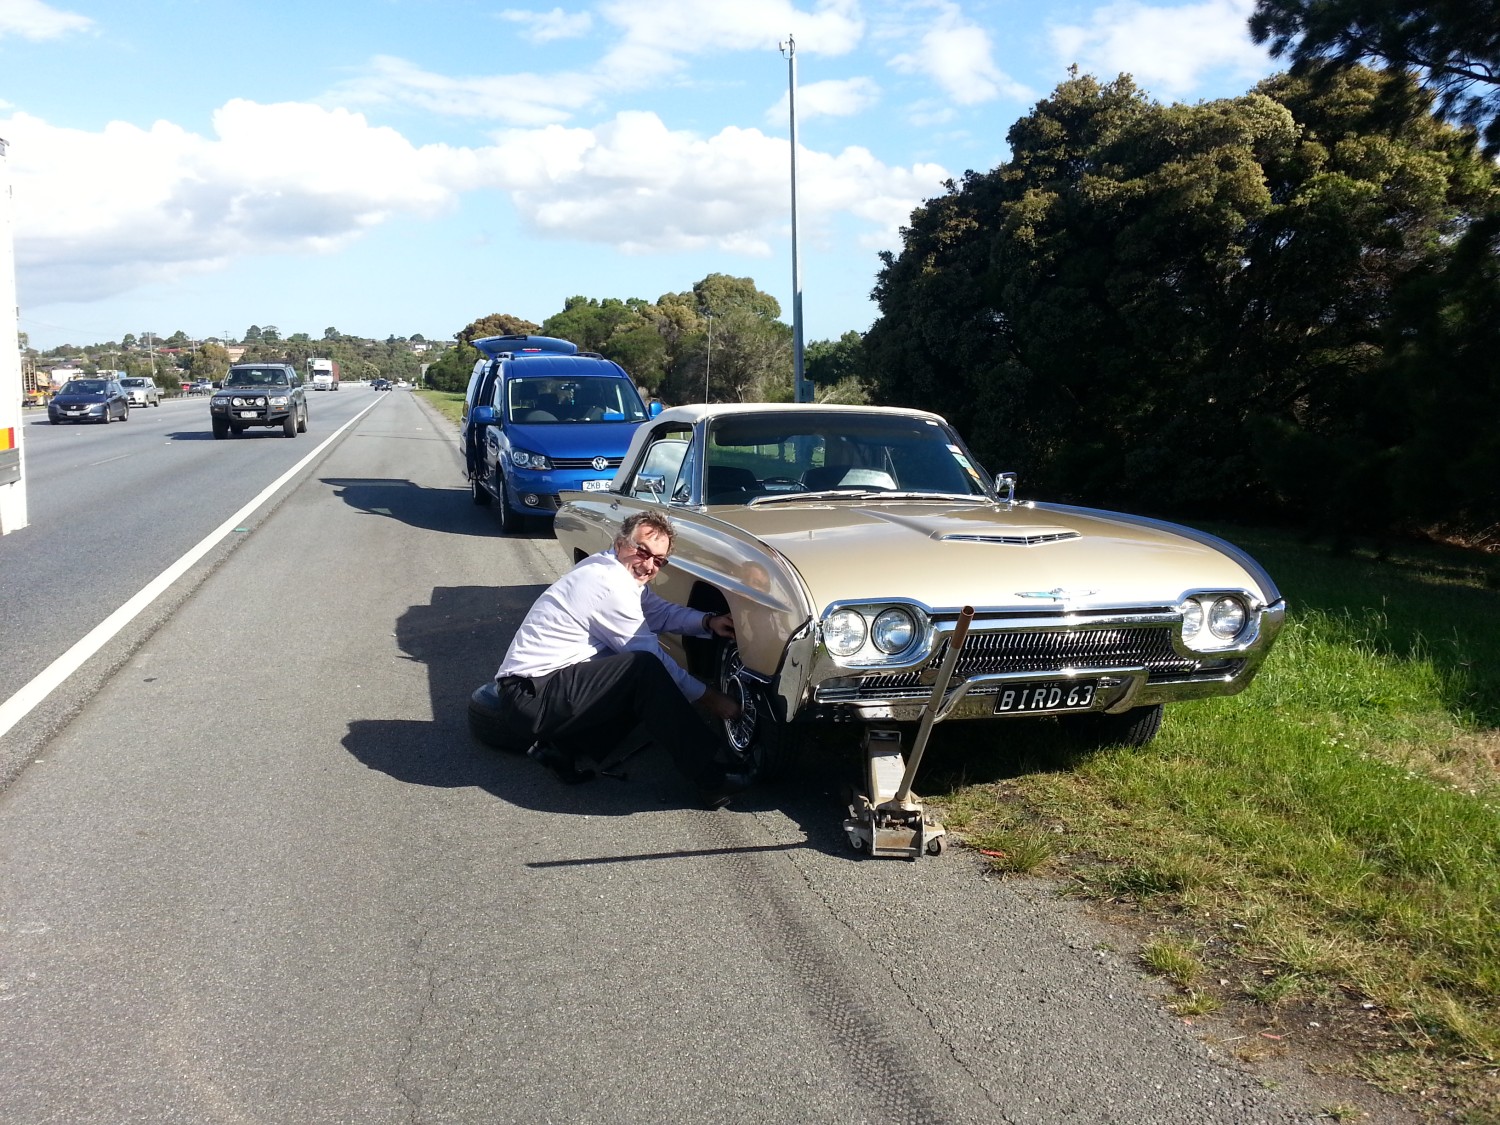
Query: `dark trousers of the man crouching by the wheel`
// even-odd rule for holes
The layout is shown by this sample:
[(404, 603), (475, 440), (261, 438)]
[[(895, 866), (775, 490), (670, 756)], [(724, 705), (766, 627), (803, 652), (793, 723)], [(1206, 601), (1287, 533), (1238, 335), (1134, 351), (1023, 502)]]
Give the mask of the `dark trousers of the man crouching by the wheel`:
[(567, 758), (600, 760), (638, 723), (694, 784), (720, 783), (718, 744), (651, 652), (584, 660), (544, 676), (500, 681), (504, 722), (518, 736), (549, 742)]

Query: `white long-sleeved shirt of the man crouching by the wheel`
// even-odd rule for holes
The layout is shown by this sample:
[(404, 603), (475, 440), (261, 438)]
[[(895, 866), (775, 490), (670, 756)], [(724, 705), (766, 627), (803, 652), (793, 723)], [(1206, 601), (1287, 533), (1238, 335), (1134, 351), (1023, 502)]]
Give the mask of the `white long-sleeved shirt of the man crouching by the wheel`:
[(696, 702), (704, 684), (662, 650), (658, 633), (711, 636), (700, 609), (668, 602), (650, 585), (636, 582), (612, 550), (603, 550), (585, 558), (536, 600), (495, 678), (542, 676), (615, 652), (654, 652), (687, 700)]

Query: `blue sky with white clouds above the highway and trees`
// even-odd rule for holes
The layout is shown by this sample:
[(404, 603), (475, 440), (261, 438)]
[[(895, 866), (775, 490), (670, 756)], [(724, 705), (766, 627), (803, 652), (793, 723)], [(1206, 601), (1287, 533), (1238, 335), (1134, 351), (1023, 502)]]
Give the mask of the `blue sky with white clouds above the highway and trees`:
[(837, 339), (1070, 66), (1161, 102), (1281, 69), (1251, 3), (0, 0), (20, 330), (447, 339), (711, 273), (790, 324), (795, 273)]

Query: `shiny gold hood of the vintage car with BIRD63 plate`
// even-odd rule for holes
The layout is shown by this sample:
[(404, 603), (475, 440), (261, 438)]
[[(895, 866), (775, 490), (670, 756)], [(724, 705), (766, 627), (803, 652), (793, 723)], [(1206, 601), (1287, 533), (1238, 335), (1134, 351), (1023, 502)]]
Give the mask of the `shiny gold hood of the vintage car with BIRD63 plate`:
[(1114, 512), (850, 500), (744, 507), (729, 520), (784, 555), (819, 610), (888, 597), (932, 609), (1162, 606), (1190, 590), (1280, 598), (1238, 548)]

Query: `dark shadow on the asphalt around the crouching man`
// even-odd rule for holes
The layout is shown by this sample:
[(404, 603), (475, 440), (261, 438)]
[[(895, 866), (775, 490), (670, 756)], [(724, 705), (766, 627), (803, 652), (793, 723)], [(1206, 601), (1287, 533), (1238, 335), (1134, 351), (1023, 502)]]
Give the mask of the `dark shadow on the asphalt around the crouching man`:
[[(620, 777), (600, 774), (568, 786), (530, 758), (489, 747), (470, 732), (470, 694), (495, 674), (510, 638), (544, 590), (544, 585), (435, 586), (428, 604), (411, 606), (396, 621), (400, 651), (426, 666), (435, 718), (356, 720), (342, 740), (345, 750), (368, 768), (406, 784), (477, 788), (536, 812), (633, 816), (662, 807), (696, 807), (693, 786), (654, 746), (628, 758)], [(600, 747), (596, 760), (615, 759), (627, 747), (628, 742)], [(806, 843), (789, 846), (849, 854), (840, 828), (842, 806), (830, 800), (830, 789), (818, 772), (784, 788), (752, 789), (732, 807), (738, 812), (778, 808), (801, 825), (807, 837)]]

